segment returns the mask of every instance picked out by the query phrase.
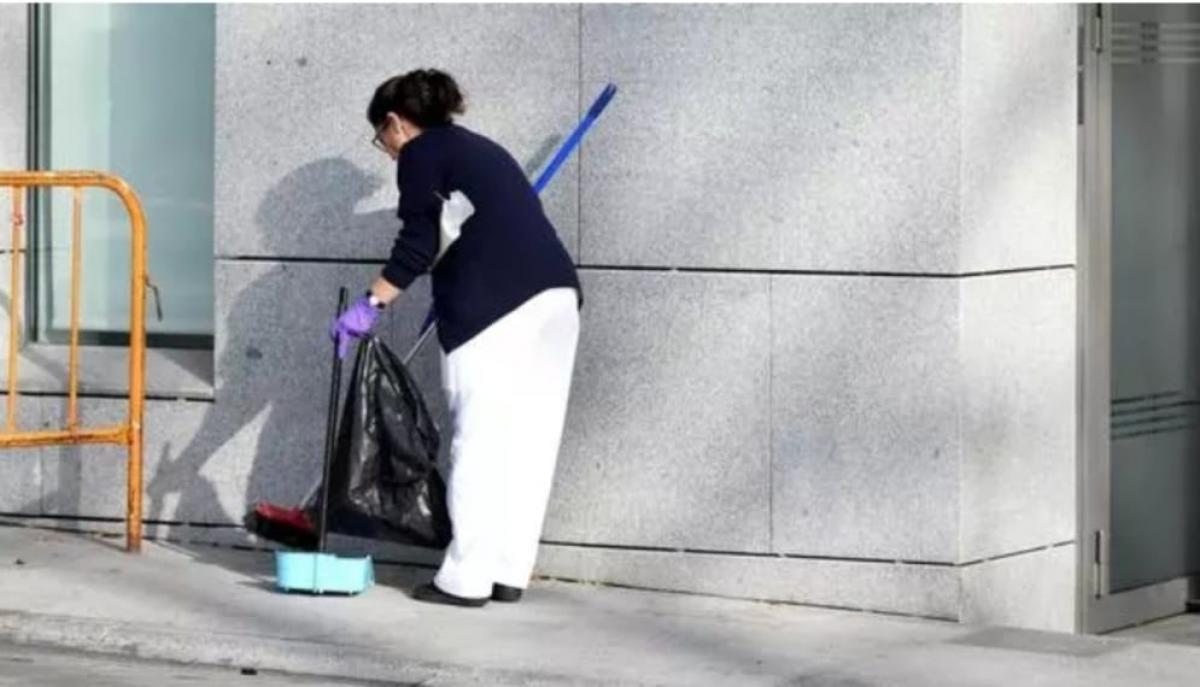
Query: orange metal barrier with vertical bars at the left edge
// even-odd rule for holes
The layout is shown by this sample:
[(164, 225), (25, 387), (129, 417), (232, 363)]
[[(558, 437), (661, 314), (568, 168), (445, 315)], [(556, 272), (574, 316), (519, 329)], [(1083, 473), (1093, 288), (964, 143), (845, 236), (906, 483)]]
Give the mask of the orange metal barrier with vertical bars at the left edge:
[[(142, 417), (145, 404), (145, 214), (137, 195), (122, 179), (101, 172), (0, 172), (0, 189), (12, 196), (12, 281), (10, 285), (7, 419), (0, 431), (0, 448), (29, 448), (90, 443), (113, 443), (128, 449), (126, 467), (126, 549), (142, 550)], [(67, 426), (47, 431), (17, 429), (18, 350), (20, 336), (20, 265), (25, 225), (25, 195), (32, 187), (68, 187), (73, 193), (71, 213), (71, 342), (67, 380)], [(83, 191), (107, 189), (125, 204), (130, 216), (133, 255), (130, 275), (130, 414), (124, 424), (102, 428), (79, 426), (79, 275), (83, 264)]]

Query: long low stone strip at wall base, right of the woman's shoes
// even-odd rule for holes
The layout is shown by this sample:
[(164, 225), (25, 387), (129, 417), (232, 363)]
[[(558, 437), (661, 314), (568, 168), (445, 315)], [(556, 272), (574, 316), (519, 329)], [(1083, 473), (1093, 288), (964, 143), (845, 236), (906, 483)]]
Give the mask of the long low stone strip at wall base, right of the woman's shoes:
[(953, 566), (541, 546), (538, 574), (703, 595), (958, 619)]

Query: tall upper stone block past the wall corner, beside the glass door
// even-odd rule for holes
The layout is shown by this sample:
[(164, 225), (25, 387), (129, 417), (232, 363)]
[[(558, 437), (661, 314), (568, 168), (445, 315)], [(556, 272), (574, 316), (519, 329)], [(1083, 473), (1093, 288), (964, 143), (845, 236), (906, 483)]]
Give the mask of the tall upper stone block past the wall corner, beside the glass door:
[(962, 6), (961, 271), (1075, 262), (1078, 11)]

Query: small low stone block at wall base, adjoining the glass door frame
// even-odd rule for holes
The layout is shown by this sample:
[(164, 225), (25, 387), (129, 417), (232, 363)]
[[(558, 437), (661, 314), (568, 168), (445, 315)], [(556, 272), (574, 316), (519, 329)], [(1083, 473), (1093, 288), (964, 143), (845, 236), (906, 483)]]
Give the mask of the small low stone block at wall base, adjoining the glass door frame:
[(1075, 545), (962, 568), (962, 622), (1075, 632)]

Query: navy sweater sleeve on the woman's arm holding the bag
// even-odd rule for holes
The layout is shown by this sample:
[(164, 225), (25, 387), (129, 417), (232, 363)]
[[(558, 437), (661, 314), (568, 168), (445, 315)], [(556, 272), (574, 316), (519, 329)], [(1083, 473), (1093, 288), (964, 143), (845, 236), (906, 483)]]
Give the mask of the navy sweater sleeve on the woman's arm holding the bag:
[[(409, 143), (396, 165), (403, 226), (383, 268), (383, 277), (397, 288), (408, 288), (427, 273), (438, 255), (438, 214), (442, 207), (443, 165), (431, 145)], [(425, 143), (425, 142), (420, 142)]]

